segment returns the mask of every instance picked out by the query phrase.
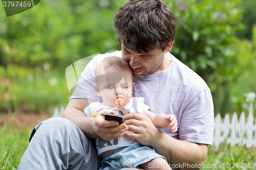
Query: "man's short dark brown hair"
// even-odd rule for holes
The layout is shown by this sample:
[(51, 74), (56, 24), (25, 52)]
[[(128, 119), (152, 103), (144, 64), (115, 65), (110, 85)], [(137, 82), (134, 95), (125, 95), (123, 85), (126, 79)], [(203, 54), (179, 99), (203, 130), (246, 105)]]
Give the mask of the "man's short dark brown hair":
[(161, 0), (130, 0), (115, 14), (114, 27), (117, 40), (136, 53), (164, 51), (176, 31), (173, 13)]

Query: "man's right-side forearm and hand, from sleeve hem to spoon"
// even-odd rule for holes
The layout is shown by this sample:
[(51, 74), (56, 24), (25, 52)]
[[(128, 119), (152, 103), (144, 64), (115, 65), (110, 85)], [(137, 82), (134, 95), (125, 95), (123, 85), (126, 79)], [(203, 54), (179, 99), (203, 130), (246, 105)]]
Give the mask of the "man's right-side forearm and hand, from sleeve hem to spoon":
[[(125, 133), (125, 137), (137, 140), (143, 145), (153, 147), (156, 152), (163, 155), (168, 163), (183, 165), (183, 163), (201, 166), (207, 156), (207, 144), (181, 141), (159, 131), (150, 118), (141, 114), (124, 115), (124, 124), (128, 130), (135, 133)], [(194, 167), (194, 166), (193, 166)], [(200, 166), (199, 166), (200, 167)], [(179, 168), (179, 167), (178, 167)], [(180, 167), (181, 168), (181, 167)], [(182, 166), (182, 169), (189, 169)], [(194, 168), (200, 169), (200, 168)]]

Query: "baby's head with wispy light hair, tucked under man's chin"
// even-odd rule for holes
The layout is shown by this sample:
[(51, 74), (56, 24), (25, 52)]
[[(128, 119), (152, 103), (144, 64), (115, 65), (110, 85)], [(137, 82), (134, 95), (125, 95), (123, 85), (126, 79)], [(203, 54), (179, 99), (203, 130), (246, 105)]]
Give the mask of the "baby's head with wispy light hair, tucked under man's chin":
[(133, 72), (121, 57), (104, 58), (95, 68), (95, 79), (96, 85), (93, 87), (97, 95), (102, 97), (103, 105), (115, 107), (111, 99), (116, 95), (126, 97), (124, 106), (130, 102), (134, 86)]

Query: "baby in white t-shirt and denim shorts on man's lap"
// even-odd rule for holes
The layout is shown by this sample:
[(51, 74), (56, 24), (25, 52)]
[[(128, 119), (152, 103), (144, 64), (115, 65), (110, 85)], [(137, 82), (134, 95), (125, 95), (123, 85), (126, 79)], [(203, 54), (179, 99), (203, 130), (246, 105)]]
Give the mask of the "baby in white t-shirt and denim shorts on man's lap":
[[(132, 88), (135, 84), (133, 74), (130, 65), (122, 58), (104, 58), (96, 66), (95, 79), (96, 85), (93, 87), (97, 95), (102, 97), (103, 103), (91, 103), (84, 109), (87, 116), (91, 116), (90, 113), (93, 110), (101, 111), (100, 113), (105, 113), (106, 109), (118, 111), (115, 100), (120, 98), (124, 102), (124, 108), (130, 113), (146, 115), (157, 128), (171, 128), (172, 133), (177, 131), (177, 119), (174, 115), (153, 113), (148, 111), (150, 107), (144, 104), (143, 98), (131, 98)], [(118, 114), (123, 115), (120, 111)], [(143, 169), (159, 166), (161, 167), (157, 169), (172, 169), (168, 166), (166, 159), (157, 154), (153, 148), (145, 147), (134, 139), (120, 137), (104, 141), (98, 137), (96, 138), (96, 148), (98, 155), (102, 157), (100, 169), (120, 169), (126, 167), (126, 165)]]

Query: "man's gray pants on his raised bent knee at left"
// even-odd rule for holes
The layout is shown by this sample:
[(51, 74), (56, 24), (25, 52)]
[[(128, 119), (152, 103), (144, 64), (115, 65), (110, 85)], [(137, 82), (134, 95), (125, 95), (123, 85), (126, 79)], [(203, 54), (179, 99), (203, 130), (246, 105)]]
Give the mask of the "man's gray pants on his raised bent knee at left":
[(56, 117), (40, 124), (18, 170), (99, 169), (94, 143), (70, 120)]

